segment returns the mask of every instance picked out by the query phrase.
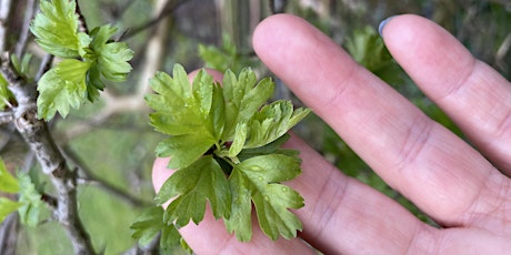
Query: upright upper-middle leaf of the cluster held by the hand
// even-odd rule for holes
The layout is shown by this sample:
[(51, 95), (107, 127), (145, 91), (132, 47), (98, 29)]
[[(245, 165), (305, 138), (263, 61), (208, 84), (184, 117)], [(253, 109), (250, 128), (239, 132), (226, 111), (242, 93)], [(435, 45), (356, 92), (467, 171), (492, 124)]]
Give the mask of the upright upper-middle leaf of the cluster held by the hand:
[(223, 141), (232, 141), (238, 123), (248, 122), (271, 98), (274, 83), (267, 78), (257, 82), (251, 69), (243, 69), (239, 76), (227, 71), (223, 78), (226, 100), (226, 130)]

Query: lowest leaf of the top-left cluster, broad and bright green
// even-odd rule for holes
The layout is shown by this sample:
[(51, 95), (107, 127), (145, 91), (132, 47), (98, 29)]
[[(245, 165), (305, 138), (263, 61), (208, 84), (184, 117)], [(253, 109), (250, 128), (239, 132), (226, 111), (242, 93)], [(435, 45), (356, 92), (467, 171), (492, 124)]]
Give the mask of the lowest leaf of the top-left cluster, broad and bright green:
[(89, 62), (68, 59), (44, 73), (39, 80), (38, 115), (50, 120), (56, 112), (68, 115), (70, 108), (84, 102), (87, 93), (86, 76)]

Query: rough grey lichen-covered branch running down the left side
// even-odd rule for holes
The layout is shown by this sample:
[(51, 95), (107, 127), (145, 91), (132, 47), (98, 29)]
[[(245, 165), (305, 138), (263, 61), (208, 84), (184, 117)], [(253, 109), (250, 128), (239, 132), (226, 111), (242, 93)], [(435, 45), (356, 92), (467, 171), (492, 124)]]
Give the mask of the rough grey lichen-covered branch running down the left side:
[(38, 119), (36, 85), (29, 84), (14, 72), (8, 54), (2, 55), (1, 63), (0, 70), (18, 101), (13, 108), (14, 126), (56, 188), (58, 205), (53, 211), (54, 217), (67, 230), (76, 254), (93, 254), (91, 241), (78, 215), (77, 173), (67, 166), (47, 123)]

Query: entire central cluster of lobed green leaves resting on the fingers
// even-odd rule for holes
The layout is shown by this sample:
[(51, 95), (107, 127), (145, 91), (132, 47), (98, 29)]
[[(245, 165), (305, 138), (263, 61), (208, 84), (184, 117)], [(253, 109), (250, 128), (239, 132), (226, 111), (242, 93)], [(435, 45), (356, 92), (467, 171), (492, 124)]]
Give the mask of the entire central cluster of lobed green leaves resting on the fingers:
[(216, 218), (238, 239), (252, 236), (252, 205), (261, 230), (272, 239), (292, 238), (301, 223), (290, 208), (303, 206), (297, 191), (281, 184), (298, 176), (298, 152), (282, 150), (287, 132), (310, 112), (288, 101), (265, 105), (273, 94), (270, 79), (258, 81), (251, 69), (227, 71), (223, 86), (201, 70), (190, 83), (177, 64), (173, 78), (157, 73), (150, 123), (169, 137), (157, 146), (177, 172), (156, 200), (168, 205), (163, 220), (177, 227), (199, 224), (209, 202)]

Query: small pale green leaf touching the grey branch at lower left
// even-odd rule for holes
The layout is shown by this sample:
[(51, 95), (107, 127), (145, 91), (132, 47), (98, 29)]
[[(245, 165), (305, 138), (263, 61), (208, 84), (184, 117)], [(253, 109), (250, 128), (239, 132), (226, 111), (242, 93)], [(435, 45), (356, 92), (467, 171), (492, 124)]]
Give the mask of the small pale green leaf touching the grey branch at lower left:
[(44, 204), (41, 201), (41, 195), (36, 190), (32, 180), (27, 173), (19, 173), (18, 181), (20, 184), (20, 198), (22, 204), (18, 208), (20, 221), (28, 226), (36, 226), (39, 223), (39, 215)]

